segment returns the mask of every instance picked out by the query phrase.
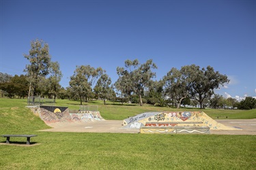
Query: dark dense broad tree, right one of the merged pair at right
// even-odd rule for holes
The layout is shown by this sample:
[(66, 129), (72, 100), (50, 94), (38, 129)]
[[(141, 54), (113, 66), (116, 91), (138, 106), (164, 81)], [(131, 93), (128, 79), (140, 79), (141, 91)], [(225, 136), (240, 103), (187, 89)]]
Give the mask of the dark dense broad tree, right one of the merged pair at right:
[(188, 97), (199, 102), (200, 108), (203, 108), (203, 101), (210, 99), (214, 95), (214, 89), (229, 83), (227, 75), (222, 75), (214, 71), (213, 67), (200, 69), (196, 65), (186, 65), (182, 67), (188, 78)]

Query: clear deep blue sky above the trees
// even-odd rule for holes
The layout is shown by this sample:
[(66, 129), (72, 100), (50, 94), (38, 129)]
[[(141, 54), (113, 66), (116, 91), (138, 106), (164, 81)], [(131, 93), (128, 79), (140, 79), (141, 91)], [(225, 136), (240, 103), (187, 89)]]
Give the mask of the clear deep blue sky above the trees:
[(76, 65), (117, 67), (153, 59), (156, 80), (172, 67), (214, 67), (231, 82), (216, 93), (256, 96), (256, 1), (0, 0), (0, 72), (24, 74), (30, 41), (44, 40), (69, 85)]

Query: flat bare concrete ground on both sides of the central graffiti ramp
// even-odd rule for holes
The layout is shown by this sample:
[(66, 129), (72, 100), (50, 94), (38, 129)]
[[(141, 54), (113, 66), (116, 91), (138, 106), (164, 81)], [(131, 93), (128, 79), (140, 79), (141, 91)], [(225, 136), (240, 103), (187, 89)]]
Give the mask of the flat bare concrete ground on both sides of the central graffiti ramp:
[[(256, 119), (216, 120), (226, 126), (236, 127), (236, 131), (211, 130), (211, 134), (218, 135), (256, 135)], [(42, 131), (51, 132), (89, 132), (89, 133), (139, 133), (139, 129), (126, 129), (123, 120), (101, 120), (94, 122), (58, 122), (48, 126), (53, 129)]]

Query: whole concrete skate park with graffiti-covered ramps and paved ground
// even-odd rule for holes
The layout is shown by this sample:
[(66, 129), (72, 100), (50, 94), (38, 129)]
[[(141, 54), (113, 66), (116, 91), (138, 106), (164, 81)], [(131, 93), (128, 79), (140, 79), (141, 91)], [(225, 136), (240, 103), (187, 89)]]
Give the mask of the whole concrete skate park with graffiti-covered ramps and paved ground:
[[(33, 108), (32, 108), (33, 109)], [(78, 133), (162, 133), (256, 135), (256, 120), (214, 120), (204, 112), (146, 112), (124, 120), (104, 120), (95, 108), (40, 106), (37, 112), (51, 129)]]

